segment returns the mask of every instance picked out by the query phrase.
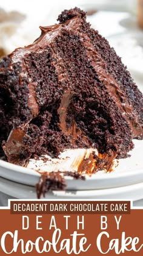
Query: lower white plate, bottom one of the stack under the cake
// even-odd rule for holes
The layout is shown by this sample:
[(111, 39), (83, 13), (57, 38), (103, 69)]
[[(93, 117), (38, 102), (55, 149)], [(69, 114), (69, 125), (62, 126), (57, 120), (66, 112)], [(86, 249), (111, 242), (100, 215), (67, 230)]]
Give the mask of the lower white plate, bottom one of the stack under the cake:
[[(0, 178), (0, 191), (18, 199), (36, 199), (34, 187), (22, 185), (10, 180)], [(45, 194), (46, 199), (131, 199), (133, 201), (142, 199), (143, 182), (104, 190), (82, 190), (82, 191), (52, 191)], [(42, 197), (43, 198), (43, 197)]]

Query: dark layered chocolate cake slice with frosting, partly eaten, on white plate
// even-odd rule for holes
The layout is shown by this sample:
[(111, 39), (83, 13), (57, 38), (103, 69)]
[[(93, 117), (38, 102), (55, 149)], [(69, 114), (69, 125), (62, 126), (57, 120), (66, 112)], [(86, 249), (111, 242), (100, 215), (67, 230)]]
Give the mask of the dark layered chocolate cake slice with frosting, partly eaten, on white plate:
[(0, 155), (26, 166), (34, 155), (95, 148), (96, 166), (108, 166), (143, 138), (142, 94), (85, 12), (58, 21), (0, 61)]

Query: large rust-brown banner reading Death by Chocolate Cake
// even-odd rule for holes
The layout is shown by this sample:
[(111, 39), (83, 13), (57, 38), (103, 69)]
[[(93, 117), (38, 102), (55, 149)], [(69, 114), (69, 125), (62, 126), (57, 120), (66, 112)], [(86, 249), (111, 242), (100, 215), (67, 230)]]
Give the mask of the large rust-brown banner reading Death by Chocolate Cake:
[[(104, 213), (33, 213), (0, 209), (0, 255), (143, 255), (143, 209)], [(128, 204), (128, 201), (39, 201), (46, 204)], [(77, 204), (77, 205), (78, 205)], [(121, 209), (120, 209), (121, 210)], [(13, 211), (15, 214), (13, 214)]]

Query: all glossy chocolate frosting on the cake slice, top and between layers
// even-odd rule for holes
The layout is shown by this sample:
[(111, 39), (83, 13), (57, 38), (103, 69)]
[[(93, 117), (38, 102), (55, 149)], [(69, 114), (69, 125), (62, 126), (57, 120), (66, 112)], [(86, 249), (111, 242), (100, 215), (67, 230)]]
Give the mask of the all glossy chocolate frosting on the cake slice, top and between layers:
[[(125, 120), (128, 122), (132, 137), (138, 137), (139, 135), (142, 135), (142, 127), (139, 125), (138, 121), (138, 114), (133, 110), (131, 107), (131, 104), (127, 102), (127, 99), (124, 95), (124, 93), (121, 90), (120, 85), (116, 82), (116, 80), (108, 73), (106, 64), (104, 60), (101, 59), (98, 52), (95, 51), (95, 48), (93, 47), (90, 38), (79, 31), (79, 28), (82, 24), (82, 18), (81, 14), (78, 15), (76, 13), (76, 16), (73, 16), (70, 20), (65, 21), (65, 23), (61, 24), (55, 24), (53, 26), (45, 26), (40, 27), (41, 29), (41, 36), (29, 46), (26, 46), (25, 48), (18, 48), (16, 49), (11, 55), (12, 63), (21, 62), (22, 63), (22, 73), (21, 77), (27, 77), (27, 68), (24, 62), (24, 55), (30, 54), (31, 52), (37, 52), (41, 49), (45, 48), (46, 46), (52, 46), (53, 40), (57, 36), (59, 36), (63, 30), (72, 30), (75, 35), (78, 35), (81, 43), (83, 44), (84, 48), (86, 49), (88, 59), (90, 60), (91, 65), (95, 69), (96, 73), (99, 76), (99, 79), (102, 81), (102, 83), (105, 85), (105, 88), (107, 89), (108, 93), (110, 94), (113, 101), (115, 101), (116, 105), (118, 106), (119, 110), (122, 112), (122, 116), (124, 116)], [(54, 57), (58, 62), (54, 61)], [(58, 52), (55, 52), (53, 49), (53, 65), (55, 66), (56, 72), (58, 74), (59, 82), (63, 82), (68, 79), (66, 69), (64, 68), (64, 63), (61, 57), (58, 55)], [(39, 107), (38, 107), (38, 100), (36, 99), (35, 94), (35, 88), (36, 83), (33, 83), (31, 80), (29, 80), (28, 83), (29, 88), (29, 97), (28, 97), (28, 107), (31, 110), (31, 119), (33, 119), (35, 116), (39, 113)], [(82, 132), (76, 127), (76, 122), (73, 120), (72, 127), (67, 129), (66, 126), (66, 115), (67, 115), (67, 108), (70, 103), (70, 99), (72, 97), (72, 93), (70, 90), (65, 89), (63, 91), (63, 96), (61, 100), (61, 105), (58, 109), (59, 114), (59, 120), (60, 120), (60, 126), (62, 131), (66, 135), (72, 135), (71, 143), (75, 144), (76, 138), (78, 138), (78, 135), (81, 135)], [(30, 120), (31, 120), (30, 119)], [(28, 123), (30, 120), (25, 124), (25, 127), (28, 126)], [(12, 162), (12, 155), (16, 155), (15, 160), (13, 162), (17, 163), (19, 151), (21, 150), (21, 147), (23, 147), (22, 139), (25, 136), (25, 128), (23, 127), (17, 127), (12, 130), (10, 133), (10, 137), (7, 140), (7, 143), (3, 146), (4, 152), (7, 155), (8, 160)], [(88, 144), (88, 139), (83, 135), (82, 139), (85, 140)], [(15, 141), (15, 142), (14, 142)], [(116, 156), (114, 155), (114, 158)], [(81, 167), (82, 169), (82, 167)]]

